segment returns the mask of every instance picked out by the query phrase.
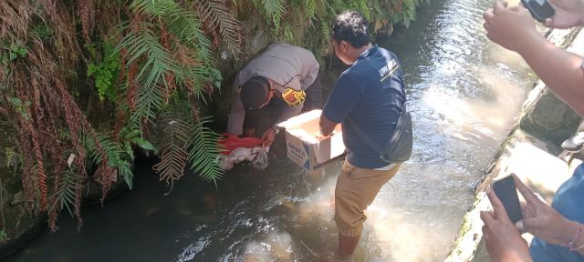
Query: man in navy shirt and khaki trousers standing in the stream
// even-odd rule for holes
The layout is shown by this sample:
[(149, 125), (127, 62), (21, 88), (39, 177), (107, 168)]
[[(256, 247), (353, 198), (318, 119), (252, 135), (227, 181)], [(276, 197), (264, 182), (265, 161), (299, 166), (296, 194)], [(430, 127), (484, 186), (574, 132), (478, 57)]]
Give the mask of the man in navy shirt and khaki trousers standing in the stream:
[(347, 158), (335, 188), (335, 222), (343, 256), (352, 255), (359, 244), (367, 218), (363, 211), (400, 168), (381, 160), (380, 153), (361, 139), (369, 136), (376, 144), (386, 145), (405, 106), (400, 61), (390, 51), (370, 44), (367, 27), (365, 18), (352, 11), (337, 15), (333, 23), (335, 54), (350, 67), (328, 96), (318, 135), (325, 139), (342, 123)]

